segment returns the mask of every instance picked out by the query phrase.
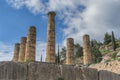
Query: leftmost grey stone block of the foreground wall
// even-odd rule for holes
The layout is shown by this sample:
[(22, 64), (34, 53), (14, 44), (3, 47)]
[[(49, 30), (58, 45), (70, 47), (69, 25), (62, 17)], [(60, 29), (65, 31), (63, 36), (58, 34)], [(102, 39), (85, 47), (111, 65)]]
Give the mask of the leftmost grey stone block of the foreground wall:
[(27, 80), (27, 64), (0, 62), (0, 80)]

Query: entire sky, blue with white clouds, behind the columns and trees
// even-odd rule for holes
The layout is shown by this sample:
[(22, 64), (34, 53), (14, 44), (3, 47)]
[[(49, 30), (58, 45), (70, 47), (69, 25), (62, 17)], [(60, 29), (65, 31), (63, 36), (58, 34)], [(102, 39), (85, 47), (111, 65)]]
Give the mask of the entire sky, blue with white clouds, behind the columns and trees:
[[(82, 36), (103, 40), (105, 32), (120, 38), (119, 0), (0, 0), (0, 61), (11, 60), (14, 44), (27, 36), (29, 26), (37, 28), (36, 60), (45, 58), (47, 13), (56, 12), (56, 44), (66, 38), (82, 45)], [(42, 52), (44, 49), (44, 52)]]

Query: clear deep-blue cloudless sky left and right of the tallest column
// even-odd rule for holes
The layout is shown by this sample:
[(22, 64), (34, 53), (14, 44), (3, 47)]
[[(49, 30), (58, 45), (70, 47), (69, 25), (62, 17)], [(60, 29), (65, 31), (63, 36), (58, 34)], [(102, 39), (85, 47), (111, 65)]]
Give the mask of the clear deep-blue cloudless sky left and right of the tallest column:
[[(0, 39), (2, 41), (11, 44), (19, 42), (22, 36), (27, 35), (28, 28), (33, 25), (37, 28), (37, 40), (46, 42), (47, 14), (32, 14), (26, 8), (16, 10), (5, 0), (1, 0), (0, 5)], [(61, 21), (56, 20), (57, 35), (59, 35), (61, 33), (59, 30)], [(59, 36), (62, 38), (62, 35)], [(56, 40), (61, 42), (61, 38)]]

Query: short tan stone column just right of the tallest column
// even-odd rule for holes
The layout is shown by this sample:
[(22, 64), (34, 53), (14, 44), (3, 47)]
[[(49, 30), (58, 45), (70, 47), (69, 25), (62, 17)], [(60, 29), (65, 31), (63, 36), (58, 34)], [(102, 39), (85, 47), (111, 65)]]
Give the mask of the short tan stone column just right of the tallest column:
[(73, 38), (67, 39), (66, 47), (66, 64), (74, 65), (74, 40)]

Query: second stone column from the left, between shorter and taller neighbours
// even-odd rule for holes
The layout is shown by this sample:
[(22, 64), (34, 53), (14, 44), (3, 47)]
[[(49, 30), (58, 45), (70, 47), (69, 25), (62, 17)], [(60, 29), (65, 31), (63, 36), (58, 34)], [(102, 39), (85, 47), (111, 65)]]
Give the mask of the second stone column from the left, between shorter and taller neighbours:
[(20, 43), (20, 51), (19, 51), (19, 62), (24, 62), (25, 60), (25, 50), (26, 50), (26, 37), (21, 38), (21, 43)]

